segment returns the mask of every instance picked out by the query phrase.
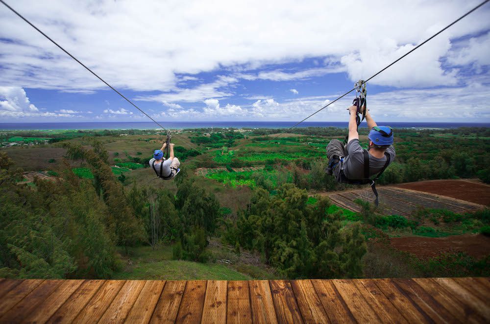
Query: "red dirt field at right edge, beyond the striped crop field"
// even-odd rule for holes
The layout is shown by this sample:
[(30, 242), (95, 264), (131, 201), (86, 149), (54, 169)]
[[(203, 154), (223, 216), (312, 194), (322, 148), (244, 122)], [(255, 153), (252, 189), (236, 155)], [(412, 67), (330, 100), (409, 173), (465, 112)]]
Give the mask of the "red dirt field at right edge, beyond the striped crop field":
[(490, 205), (490, 185), (464, 180), (432, 180), (396, 185), (404, 189), (429, 192), (461, 199), (475, 204)]

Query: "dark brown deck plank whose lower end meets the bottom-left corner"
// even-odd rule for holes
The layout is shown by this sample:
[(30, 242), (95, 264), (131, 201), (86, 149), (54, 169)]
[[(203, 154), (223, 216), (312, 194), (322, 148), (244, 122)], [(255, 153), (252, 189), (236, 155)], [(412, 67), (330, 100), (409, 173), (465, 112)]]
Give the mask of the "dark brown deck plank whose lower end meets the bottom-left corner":
[[(24, 280), (24, 282), (30, 280)], [(38, 284), (39, 281), (42, 281)], [(1, 318), (1, 323), (19, 323), (23, 322), (41, 302), (45, 301), (58, 288), (63, 280), (36, 280), (33, 285), (36, 287), (27, 294), (21, 301), (10, 308)], [(23, 283), (24, 283), (23, 282)], [(30, 288), (30, 287), (29, 287)], [(15, 292), (17, 289), (12, 290)]]

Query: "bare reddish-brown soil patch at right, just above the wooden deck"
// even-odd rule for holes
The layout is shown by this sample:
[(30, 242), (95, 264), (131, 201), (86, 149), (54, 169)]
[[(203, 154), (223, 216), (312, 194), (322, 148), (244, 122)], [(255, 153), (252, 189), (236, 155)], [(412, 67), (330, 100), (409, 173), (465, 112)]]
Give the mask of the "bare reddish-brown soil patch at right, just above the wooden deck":
[(490, 254), (490, 237), (482, 234), (392, 237), (390, 241), (392, 247), (422, 258), (434, 257), (443, 252), (465, 252), (476, 258)]

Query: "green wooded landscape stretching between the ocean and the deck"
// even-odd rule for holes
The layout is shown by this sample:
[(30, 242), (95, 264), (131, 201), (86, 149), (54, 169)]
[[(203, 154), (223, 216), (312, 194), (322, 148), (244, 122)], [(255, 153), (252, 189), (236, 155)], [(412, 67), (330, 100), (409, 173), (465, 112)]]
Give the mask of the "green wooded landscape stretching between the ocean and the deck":
[[(396, 162), (379, 184), (490, 182), (488, 129), (395, 132)], [(184, 167), (171, 185), (151, 180), (147, 161), (162, 138), (155, 131), (2, 134), (7, 142), (47, 142), (0, 151), (0, 277), (122, 278), (127, 260), (143, 250), (204, 265), (235, 262), (233, 271), (245, 278), (489, 275), (489, 256), (421, 259), (386, 244), (407, 233), (490, 234), (488, 208), (419, 209), (406, 217), (359, 200), (360, 212), (352, 212), (318, 194), (350, 187), (324, 172), (325, 146), (342, 139), (342, 130), (299, 128), (274, 139), (277, 133), (185, 130), (179, 136), (195, 147), (176, 137)], [(361, 139), (366, 133), (360, 130)], [(19, 153), (36, 149), (51, 152), (49, 159), (28, 171), (46, 177), (23, 185)]]

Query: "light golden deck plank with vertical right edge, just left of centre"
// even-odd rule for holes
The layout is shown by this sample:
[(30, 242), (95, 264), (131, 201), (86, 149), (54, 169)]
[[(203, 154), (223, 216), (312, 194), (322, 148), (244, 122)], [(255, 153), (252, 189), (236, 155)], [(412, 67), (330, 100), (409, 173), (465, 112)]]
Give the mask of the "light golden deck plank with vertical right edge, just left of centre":
[(201, 323), (226, 322), (227, 281), (208, 280)]

